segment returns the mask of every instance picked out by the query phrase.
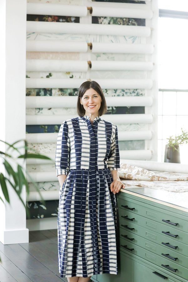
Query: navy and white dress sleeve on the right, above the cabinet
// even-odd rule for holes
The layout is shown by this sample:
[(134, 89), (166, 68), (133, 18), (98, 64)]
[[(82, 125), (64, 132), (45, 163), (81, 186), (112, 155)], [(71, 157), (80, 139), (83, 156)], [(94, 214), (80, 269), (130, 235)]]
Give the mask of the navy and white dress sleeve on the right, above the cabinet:
[(118, 128), (116, 126), (115, 133), (113, 134), (110, 154), (108, 155), (108, 168), (109, 170), (118, 170), (120, 168), (120, 156), (118, 145)]

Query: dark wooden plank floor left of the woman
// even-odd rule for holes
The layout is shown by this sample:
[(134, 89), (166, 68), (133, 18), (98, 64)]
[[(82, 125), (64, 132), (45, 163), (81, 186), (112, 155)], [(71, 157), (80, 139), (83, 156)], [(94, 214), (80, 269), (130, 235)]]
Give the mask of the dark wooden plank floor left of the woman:
[(56, 282), (58, 269), (57, 229), (30, 231), (29, 243), (0, 242), (0, 282)]

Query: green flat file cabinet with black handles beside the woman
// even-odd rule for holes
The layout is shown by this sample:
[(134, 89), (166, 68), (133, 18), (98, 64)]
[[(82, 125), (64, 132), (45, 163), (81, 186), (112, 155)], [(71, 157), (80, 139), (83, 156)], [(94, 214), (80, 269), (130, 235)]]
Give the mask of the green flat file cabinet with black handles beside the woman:
[(124, 192), (118, 199), (118, 275), (98, 282), (188, 282), (188, 212)]

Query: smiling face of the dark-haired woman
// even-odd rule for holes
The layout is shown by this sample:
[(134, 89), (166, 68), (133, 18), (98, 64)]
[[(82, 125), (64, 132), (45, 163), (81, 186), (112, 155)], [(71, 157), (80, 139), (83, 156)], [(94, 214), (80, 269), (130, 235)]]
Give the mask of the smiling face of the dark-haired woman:
[(86, 115), (98, 115), (98, 111), (101, 107), (101, 101), (101, 96), (92, 88), (86, 90), (82, 98), (80, 98), (80, 103), (86, 110)]

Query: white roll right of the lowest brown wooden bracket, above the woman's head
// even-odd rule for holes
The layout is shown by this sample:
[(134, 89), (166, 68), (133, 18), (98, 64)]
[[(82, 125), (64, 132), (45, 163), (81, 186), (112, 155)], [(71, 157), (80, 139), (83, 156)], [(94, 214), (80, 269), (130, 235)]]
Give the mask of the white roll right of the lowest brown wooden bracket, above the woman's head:
[(91, 70), (152, 70), (152, 62), (91, 61)]

